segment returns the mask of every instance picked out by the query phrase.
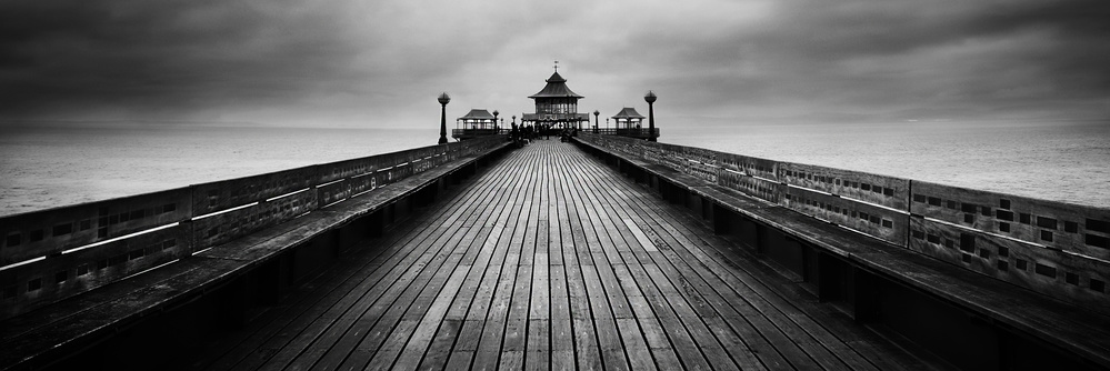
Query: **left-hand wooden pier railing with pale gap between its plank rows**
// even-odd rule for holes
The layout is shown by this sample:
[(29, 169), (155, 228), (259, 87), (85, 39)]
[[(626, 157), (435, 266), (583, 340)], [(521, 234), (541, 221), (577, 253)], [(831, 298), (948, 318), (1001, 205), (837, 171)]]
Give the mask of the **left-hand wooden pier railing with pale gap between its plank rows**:
[(0, 319), (488, 151), (432, 146), (0, 218)]

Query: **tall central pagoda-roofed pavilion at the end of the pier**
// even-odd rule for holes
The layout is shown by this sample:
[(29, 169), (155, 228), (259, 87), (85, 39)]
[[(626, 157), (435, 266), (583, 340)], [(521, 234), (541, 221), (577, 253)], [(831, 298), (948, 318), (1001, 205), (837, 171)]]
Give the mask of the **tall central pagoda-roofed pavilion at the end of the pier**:
[(582, 122), (590, 122), (589, 113), (578, 113), (578, 100), (586, 98), (574, 93), (567, 87), (567, 79), (559, 74), (556, 67), (554, 73), (547, 80), (543, 90), (532, 94), (536, 100), (536, 113), (523, 113), (520, 119), (523, 126), (534, 126), (537, 130), (551, 129), (581, 129)]

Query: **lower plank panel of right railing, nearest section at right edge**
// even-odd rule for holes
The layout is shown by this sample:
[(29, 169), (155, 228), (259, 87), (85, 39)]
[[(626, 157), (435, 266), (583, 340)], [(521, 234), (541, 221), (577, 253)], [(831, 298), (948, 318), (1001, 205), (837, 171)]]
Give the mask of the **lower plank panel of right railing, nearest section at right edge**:
[(913, 251), (1033, 291), (1110, 312), (1110, 262), (983, 231), (911, 218)]

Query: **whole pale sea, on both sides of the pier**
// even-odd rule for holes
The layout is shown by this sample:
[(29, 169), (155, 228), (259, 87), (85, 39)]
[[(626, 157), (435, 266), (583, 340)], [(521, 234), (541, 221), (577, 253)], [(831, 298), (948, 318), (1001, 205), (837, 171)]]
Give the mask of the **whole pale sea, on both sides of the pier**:
[[(1110, 122), (660, 124), (659, 141), (1110, 208)], [(0, 215), (432, 146), (430, 129), (0, 128)], [(569, 146), (569, 144), (568, 144)]]

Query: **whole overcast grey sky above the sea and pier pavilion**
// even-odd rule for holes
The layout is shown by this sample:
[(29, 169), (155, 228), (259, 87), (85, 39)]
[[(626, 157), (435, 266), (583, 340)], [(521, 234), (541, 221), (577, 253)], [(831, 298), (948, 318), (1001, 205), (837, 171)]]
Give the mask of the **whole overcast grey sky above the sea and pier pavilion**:
[[(1106, 0), (6, 0), (0, 122), (1107, 120)], [(508, 122), (508, 120), (507, 120)]]

